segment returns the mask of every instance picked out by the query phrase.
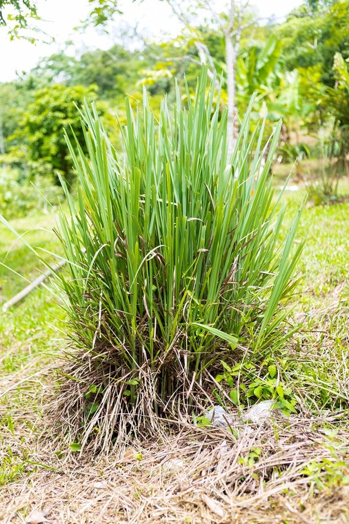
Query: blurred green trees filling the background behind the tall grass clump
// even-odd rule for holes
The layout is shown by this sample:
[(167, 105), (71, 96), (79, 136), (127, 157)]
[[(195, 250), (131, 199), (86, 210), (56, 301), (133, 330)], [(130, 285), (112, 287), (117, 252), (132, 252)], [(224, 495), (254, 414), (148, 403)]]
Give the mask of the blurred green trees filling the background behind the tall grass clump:
[[(208, 7), (206, 2), (202, 5)], [(9, 6), (22, 17), (23, 24), (29, 23), (25, 13), (38, 16), (31, 0), (0, 0), (0, 9)], [(190, 6), (199, 9), (201, 3), (193, 1)], [(94, 24), (106, 23), (118, 10), (114, 0), (92, 0), (90, 7), (94, 10)], [(286, 21), (266, 25), (251, 12), (243, 12), (235, 63), (228, 66), (226, 40), (220, 29), (226, 27), (227, 14), (205, 12), (207, 16), (198, 19), (199, 25), (195, 25), (195, 17), (190, 19), (189, 8), (183, 16), (179, 12), (183, 32), (176, 38), (146, 42), (143, 47), (128, 47), (111, 39), (106, 50), (59, 52), (42, 59), (15, 81), (0, 84), (0, 154), (17, 165), (26, 164), (26, 169), (28, 165), (37, 169), (40, 161), (41, 168), (44, 164), (49, 170), (70, 172), (68, 153), (59, 133), (70, 123), (77, 129), (73, 100), (79, 105), (87, 94), (90, 99), (103, 100), (107, 127), (113, 140), (118, 141), (112, 115), (117, 113), (121, 124), (125, 121), (122, 106), (126, 94), (137, 105), (146, 86), (148, 103), (156, 112), (163, 94), (175, 100), (174, 79), (181, 84), (185, 75), (189, 92), (192, 90), (205, 60), (210, 63), (211, 73), (222, 81), (222, 103), (228, 99), (228, 70), (235, 68), (239, 118), (256, 92), (252, 117), (257, 121), (267, 109), (270, 127), (282, 118), (284, 143), (293, 136), (300, 141), (303, 130), (316, 132), (319, 123), (331, 125), (334, 118), (337, 123), (345, 121), (346, 116), (339, 112), (341, 108), (345, 112), (346, 106), (337, 103), (345, 90), (339, 85), (339, 73), (333, 64), (336, 57), (337, 64), (339, 56), (344, 64), (349, 57), (348, 0), (308, 1), (293, 10)], [(189, 22), (192, 26), (188, 26)], [(326, 111), (326, 105), (332, 109)], [(343, 137), (343, 125), (338, 129)]]

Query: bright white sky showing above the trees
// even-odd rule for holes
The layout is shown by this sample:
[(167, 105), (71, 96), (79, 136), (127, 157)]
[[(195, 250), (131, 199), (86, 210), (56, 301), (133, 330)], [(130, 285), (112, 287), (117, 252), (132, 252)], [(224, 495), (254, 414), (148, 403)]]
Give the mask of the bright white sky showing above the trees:
[[(212, 0), (212, 8), (219, 11), (224, 3), (224, 0)], [(260, 17), (275, 16), (277, 19), (282, 19), (301, 3), (301, 0), (250, 0)], [(127, 28), (132, 30), (137, 26), (138, 34), (155, 40), (165, 35), (175, 37), (181, 30), (168, 4), (159, 0), (144, 0), (143, 3), (120, 0), (123, 14), (114, 17), (108, 35), (92, 28), (84, 32), (74, 30), (87, 17), (88, 0), (37, 0), (37, 6), (44, 20), (40, 28), (54, 37), (54, 42), (44, 43), (41, 40), (45, 37), (39, 37), (41, 40), (35, 44), (23, 39), (10, 41), (6, 29), (0, 27), (0, 82), (14, 79), (17, 72), (36, 66), (41, 57), (61, 50), (74, 54), (87, 48), (110, 48), (114, 43), (120, 43)], [(72, 42), (68, 48), (66, 41)]]

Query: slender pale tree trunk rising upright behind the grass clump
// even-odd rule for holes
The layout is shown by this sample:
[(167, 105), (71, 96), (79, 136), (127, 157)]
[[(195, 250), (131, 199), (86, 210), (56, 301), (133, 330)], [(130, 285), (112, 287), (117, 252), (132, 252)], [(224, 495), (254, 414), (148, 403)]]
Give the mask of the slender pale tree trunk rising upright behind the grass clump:
[(237, 143), (237, 103), (235, 85), (235, 48), (230, 33), (226, 32), (226, 66), (228, 86), (228, 157), (231, 157)]

